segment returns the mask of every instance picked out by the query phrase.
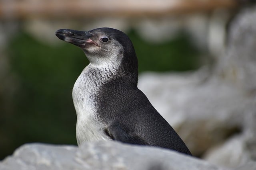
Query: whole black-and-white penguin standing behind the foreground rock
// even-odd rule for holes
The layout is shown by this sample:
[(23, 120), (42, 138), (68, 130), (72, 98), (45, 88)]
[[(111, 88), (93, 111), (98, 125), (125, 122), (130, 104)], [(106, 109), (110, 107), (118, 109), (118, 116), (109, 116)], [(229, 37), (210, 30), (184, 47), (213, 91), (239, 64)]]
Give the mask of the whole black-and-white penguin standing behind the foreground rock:
[(80, 47), (90, 62), (72, 90), (78, 146), (86, 141), (116, 140), (191, 155), (138, 89), (138, 59), (125, 33), (103, 27), (90, 31), (59, 29), (55, 35)]

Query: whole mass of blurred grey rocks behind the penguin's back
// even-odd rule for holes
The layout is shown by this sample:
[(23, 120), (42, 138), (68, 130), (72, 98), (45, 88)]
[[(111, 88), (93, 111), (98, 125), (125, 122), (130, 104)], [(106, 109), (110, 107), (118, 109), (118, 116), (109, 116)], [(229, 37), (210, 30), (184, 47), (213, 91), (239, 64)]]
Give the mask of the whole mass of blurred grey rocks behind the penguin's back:
[(256, 160), (256, 8), (230, 24), (226, 53), (214, 68), (144, 73), (139, 88), (192, 154), (236, 167)]

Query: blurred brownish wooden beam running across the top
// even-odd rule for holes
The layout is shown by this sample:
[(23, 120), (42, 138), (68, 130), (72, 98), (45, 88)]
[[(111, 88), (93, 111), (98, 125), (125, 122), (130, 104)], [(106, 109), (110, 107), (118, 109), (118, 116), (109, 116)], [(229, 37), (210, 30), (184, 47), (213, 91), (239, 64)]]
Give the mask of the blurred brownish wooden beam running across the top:
[(0, 19), (163, 16), (236, 6), (236, 0), (0, 0)]

